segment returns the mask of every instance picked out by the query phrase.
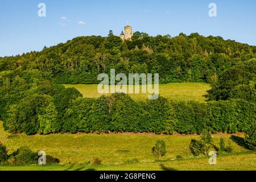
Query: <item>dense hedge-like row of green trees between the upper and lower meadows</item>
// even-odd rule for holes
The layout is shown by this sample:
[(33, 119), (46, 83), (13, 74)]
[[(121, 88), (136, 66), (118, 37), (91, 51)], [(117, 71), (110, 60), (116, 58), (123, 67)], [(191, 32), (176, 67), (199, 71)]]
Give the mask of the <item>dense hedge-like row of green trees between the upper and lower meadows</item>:
[[(134, 101), (126, 94), (82, 98), (72, 89), (56, 97), (32, 95), (8, 111), (5, 128), (12, 133), (147, 132), (172, 134), (247, 131), (256, 125), (256, 104), (244, 100)], [(71, 98), (67, 100), (66, 98)], [(60, 100), (61, 98), (61, 100)]]

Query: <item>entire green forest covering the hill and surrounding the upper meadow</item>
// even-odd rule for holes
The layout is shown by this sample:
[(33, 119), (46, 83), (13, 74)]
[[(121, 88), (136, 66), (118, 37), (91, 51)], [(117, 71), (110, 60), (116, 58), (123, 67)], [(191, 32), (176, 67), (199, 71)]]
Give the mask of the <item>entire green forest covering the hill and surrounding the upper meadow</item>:
[[(208, 82), (208, 102), (125, 94), (82, 98), (61, 84), (98, 83), (99, 73), (159, 73), (160, 83)], [(245, 131), (255, 138), (256, 47), (197, 33), (86, 36), (0, 59), (0, 119), (11, 133)]]

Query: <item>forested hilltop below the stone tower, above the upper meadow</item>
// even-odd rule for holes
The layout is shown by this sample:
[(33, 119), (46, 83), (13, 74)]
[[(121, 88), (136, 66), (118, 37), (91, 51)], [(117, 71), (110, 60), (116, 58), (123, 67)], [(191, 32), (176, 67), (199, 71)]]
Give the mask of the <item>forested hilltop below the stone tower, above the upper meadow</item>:
[(116, 73), (159, 73), (161, 83), (215, 82), (225, 69), (255, 57), (255, 46), (219, 36), (181, 33), (171, 38), (135, 32), (131, 42), (113, 34), (86, 36), (40, 52), (3, 57), (0, 72), (32, 74), (60, 84), (92, 84), (99, 73), (114, 68)]

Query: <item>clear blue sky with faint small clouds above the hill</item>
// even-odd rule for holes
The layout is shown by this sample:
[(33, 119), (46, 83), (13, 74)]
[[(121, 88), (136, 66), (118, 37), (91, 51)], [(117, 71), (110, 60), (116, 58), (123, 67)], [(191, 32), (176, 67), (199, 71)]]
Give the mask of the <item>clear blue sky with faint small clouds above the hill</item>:
[[(41, 2), (46, 17), (39, 18)], [(212, 2), (214, 18), (208, 15)], [(254, 0), (0, 0), (0, 56), (40, 51), (76, 36), (106, 36), (109, 30), (119, 35), (128, 21), (133, 31), (152, 36), (199, 32), (256, 46)]]

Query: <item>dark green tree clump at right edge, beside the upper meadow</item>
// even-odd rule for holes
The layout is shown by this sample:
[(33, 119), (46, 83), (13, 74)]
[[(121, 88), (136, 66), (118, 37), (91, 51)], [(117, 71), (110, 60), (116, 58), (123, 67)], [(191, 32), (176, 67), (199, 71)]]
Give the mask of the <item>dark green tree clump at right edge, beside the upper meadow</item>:
[(234, 65), (220, 74), (209, 90), (209, 100), (228, 100), (231, 98), (255, 102), (256, 59)]

